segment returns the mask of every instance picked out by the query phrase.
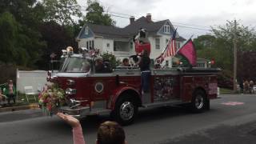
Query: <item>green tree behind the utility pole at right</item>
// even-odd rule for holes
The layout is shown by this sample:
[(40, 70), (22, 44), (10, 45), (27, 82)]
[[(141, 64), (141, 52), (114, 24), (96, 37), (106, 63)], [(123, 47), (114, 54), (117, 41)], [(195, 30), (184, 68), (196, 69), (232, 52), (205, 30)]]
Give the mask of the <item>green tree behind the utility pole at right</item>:
[[(212, 35), (202, 35), (194, 39), (198, 57), (215, 59), (216, 66), (232, 74), (234, 62), (234, 21), (224, 26), (212, 27)], [(248, 26), (237, 26), (238, 51), (256, 50), (255, 30)], [(209, 44), (210, 43), (210, 44)]]

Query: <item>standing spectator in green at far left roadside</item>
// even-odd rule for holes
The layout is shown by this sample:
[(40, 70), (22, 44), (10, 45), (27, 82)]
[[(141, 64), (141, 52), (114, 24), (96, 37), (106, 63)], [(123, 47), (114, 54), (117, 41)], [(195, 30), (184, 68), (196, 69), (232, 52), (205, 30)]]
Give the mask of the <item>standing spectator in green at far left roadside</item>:
[(12, 99), (14, 101), (14, 104), (16, 103), (16, 101), (15, 101), (16, 88), (15, 88), (12, 80), (9, 80), (9, 82), (4, 90), (4, 94), (6, 94), (6, 96), (7, 96), (8, 105), (10, 105), (10, 99)]

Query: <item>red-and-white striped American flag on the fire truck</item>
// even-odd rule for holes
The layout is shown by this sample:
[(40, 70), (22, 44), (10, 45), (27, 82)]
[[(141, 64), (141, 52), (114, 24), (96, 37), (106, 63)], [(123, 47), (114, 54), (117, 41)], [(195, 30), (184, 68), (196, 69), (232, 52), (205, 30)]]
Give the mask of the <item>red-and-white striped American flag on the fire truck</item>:
[(156, 58), (156, 61), (159, 63), (162, 63), (162, 61), (170, 56), (173, 56), (176, 54), (177, 52), (177, 47), (176, 47), (176, 31), (177, 29), (174, 31), (173, 37), (170, 38), (170, 40), (167, 43), (166, 48), (163, 50), (162, 54), (160, 54), (160, 56), (158, 58)]

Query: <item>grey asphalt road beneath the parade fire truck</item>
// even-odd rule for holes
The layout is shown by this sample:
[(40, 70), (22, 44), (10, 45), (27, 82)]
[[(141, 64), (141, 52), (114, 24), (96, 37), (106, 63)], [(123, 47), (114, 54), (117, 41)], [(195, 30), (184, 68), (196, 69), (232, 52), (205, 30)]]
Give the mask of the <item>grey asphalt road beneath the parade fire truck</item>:
[[(184, 108), (142, 110), (133, 125), (125, 126), (128, 143), (256, 143), (256, 94), (222, 95), (210, 111), (191, 114)], [(94, 143), (97, 128), (107, 115), (82, 120), (87, 143)], [(0, 114), (1, 144), (71, 144), (70, 126), (40, 110)]]

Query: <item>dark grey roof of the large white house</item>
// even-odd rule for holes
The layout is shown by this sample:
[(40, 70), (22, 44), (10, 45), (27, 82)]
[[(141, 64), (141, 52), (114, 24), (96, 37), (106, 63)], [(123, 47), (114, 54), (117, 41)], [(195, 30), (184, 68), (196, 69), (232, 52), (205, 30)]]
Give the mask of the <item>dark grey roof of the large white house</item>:
[[(158, 30), (168, 22), (169, 20), (162, 20), (158, 22), (148, 21), (146, 17), (138, 18), (136, 21), (130, 23), (130, 25), (119, 28), (116, 26), (102, 26), (95, 24), (86, 24), (94, 32), (94, 34), (107, 38), (131, 38), (135, 34), (138, 34), (140, 28), (145, 28), (150, 35), (157, 34)], [(80, 35), (80, 34), (79, 34)], [(178, 41), (185, 41), (185, 38), (179, 36)]]

